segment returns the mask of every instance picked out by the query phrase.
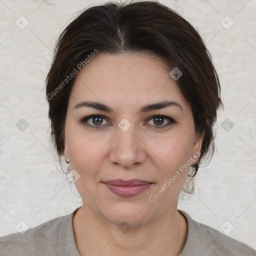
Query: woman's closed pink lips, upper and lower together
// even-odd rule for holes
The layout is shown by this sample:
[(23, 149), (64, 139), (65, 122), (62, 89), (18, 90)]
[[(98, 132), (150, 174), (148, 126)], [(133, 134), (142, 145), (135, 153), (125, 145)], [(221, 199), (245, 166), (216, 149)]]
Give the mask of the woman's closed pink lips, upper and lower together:
[(102, 182), (111, 192), (125, 197), (137, 195), (152, 184), (152, 182), (141, 179), (112, 179)]

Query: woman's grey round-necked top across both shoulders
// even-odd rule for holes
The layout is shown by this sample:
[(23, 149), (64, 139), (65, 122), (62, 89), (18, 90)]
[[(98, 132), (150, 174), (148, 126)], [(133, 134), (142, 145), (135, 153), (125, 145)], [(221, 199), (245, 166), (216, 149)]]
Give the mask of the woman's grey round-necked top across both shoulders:
[[(77, 208), (78, 209), (78, 208)], [(72, 217), (56, 217), (25, 233), (0, 237), (0, 256), (80, 256), (74, 239)], [(187, 221), (187, 237), (179, 256), (255, 256), (256, 250), (222, 232), (194, 221), (186, 212), (178, 210)]]

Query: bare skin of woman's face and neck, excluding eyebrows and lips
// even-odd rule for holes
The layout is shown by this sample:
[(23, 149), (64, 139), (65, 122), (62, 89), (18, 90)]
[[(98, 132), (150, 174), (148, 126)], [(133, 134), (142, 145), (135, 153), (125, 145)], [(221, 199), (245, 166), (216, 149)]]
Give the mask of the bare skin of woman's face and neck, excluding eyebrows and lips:
[[(75, 186), (82, 206), (74, 214), (73, 230), (81, 255), (174, 256), (184, 246), (187, 224), (177, 202), (189, 168), (154, 202), (148, 199), (201, 148), (202, 136), (195, 133), (191, 107), (170, 70), (152, 54), (99, 52), (75, 77), (64, 127), (64, 154), (80, 175)], [(74, 108), (84, 100), (104, 103), (114, 113)], [(168, 106), (138, 112), (145, 104), (163, 100), (177, 102), (182, 110)], [(80, 122), (91, 114), (105, 116), (85, 122), (99, 128)], [(175, 123), (151, 117), (157, 114)], [(123, 118), (131, 124), (126, 131), (118, 126)], [(123, 197), (101, 182), (116, 178), (153, 184), (135, 196)], [(123, 221), (130, 227), (127, 232), (118, 228)]]

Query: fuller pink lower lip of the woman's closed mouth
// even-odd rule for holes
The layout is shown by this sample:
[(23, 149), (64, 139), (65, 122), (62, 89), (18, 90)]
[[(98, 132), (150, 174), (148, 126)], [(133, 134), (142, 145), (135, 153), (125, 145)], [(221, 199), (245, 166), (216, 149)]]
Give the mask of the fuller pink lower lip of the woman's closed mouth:
[(116, 186), (108, 183), (104, 184), (109, 188), (110, 191), (112, 191), (115, 194), (121, 196), (134, 196), (146, 190), (146, 188), (149, 187), (152, 183), (135, 186)]

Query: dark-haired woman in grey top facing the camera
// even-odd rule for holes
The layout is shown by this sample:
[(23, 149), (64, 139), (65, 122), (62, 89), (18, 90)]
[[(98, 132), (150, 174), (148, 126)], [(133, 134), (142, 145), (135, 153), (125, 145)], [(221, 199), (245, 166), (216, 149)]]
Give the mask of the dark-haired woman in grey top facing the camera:
[(82, 206), (1, 237), (1, 255), (255, 255), (177, 209), (212, 155), (222, 105), (185, 19), (151, 1), (88, 8), (58, 39), (46, 98)]

